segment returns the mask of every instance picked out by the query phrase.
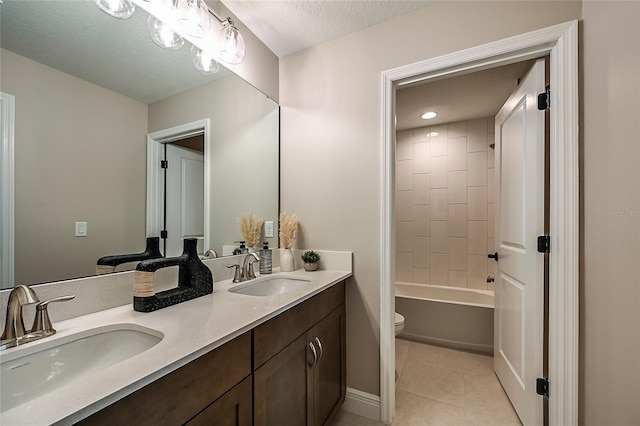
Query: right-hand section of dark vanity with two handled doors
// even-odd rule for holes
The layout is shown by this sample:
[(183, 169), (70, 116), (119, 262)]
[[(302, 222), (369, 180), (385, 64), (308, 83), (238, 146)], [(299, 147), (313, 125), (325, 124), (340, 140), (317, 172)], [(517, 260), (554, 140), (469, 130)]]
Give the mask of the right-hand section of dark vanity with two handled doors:
[[(305, 304), (309, 309), (305, 309)], [(310, 314), (311, 306), (315, 315)], [(344, 402), (343, 283), (309, 299), (301, 307), (299, 312), (289, 310), (254, 330), (255, 360), (261, 360), (258, 354), (271, 353), (280, 347), (276, 355), (254, 371), (256, 426), (325, 425)], [(291, 334), (291, 328), (284, 328), (288, 324), (305, 331), (293, 341), (283, 340), (283, 334)], [(257, 341), (269, 342), (269, 348), (261, 348)]]

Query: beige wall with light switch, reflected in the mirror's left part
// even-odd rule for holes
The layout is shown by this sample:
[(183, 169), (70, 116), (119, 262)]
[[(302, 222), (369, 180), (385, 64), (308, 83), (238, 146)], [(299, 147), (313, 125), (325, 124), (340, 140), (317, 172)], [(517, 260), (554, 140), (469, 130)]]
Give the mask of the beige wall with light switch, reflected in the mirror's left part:
[(142, 251), (147, 106), (6, 50), (1, 66), (16, 108), (16, 283), (92, 275), (101, 256)]

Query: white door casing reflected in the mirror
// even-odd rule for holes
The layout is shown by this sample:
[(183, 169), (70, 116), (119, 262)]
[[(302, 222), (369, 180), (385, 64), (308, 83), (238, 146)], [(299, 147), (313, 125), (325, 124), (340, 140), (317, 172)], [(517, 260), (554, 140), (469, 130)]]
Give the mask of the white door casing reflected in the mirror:
[(163, 158), (162, 146), (185, 137), (204, 134), (204, 250), (210, 248), (209, 217), (211, 212), (211, 166), (207, 153), (211, 153), (211, 122), (208, 118), (197, 120), (169, 129), (159, 130), (147, 135), (147, 237), (160, 235), (163, 225), (164, 180), (160, 160)]

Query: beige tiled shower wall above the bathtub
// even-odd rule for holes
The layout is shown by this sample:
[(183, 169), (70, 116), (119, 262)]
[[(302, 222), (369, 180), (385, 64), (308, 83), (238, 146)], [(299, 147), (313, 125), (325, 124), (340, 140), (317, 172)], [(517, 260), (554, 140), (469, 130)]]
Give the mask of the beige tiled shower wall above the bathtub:
[(396, 281), (493, 290), (494, 120), (396, 134)]

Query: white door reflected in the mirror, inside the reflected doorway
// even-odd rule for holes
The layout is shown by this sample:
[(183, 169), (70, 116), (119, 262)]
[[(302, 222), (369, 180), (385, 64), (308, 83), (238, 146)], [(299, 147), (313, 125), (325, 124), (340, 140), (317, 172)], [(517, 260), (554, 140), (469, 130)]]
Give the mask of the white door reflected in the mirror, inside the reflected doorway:
[(204, 242), (204, 155), (202, 152), (166, 144), (165, 228), (166, 257), (182, 254), (184, 238)]

